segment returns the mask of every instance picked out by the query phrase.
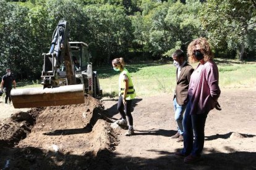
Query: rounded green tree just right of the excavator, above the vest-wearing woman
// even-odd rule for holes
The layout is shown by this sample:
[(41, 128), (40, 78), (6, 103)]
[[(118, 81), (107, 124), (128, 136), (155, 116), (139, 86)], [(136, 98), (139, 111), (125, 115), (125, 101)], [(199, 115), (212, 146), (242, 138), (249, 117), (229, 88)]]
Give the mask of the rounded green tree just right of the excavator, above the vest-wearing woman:
[(131, 42), (131, 24), (124, 8), (105, 4), (85, 6), (84, 10), (89, 17), (90, 41), (101, 51), (96, 60), (101, 60), (100, 64), (103, 61), (109, 63), (111, 55), (124, 54), (127, 43)]

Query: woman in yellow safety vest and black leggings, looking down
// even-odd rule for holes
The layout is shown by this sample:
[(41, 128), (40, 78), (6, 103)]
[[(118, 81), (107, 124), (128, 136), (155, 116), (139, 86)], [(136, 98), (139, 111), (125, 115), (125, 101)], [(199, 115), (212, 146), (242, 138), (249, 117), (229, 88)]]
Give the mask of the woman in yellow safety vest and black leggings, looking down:
[(121, 71), (119, 75), (119, 99), (117, 103), (117, 110), (121, 114), (122, 119), (117, 120), (116, 124), (122, 127), (127, 127), (128, 124), (129, 129), (125, 135), (132, 136), (134, 134), (134, 127), (131, 108), (132, 99), (134, 99), (136, 95), (134, 90), (134, 84), (132, 83), (132, 79), (130, 78), (130, 73), (126, 70), (126, 68), (124, 68), (124, 59), (122, 59), (122, 57), (112, 60), (112, 65), (115, 71)]

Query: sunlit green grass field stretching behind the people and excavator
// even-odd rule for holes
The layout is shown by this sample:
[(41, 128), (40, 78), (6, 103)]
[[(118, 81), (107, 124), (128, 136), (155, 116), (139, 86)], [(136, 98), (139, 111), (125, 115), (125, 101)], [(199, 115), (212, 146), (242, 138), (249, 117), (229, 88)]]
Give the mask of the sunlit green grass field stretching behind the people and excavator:
[[(220, 88), (255, 87), (256, 62), (215, 59), (220, 73)], [(195, 68), (198, 63), (192, 64)], [(176, 68), (172, 62), (140, 62), (126, 66), (132, 76), (139, 97), (167, 93), (173, 95), (176, 86)], [(119, 71), (112, 65), (93, 68), (100, 78), (103, 95), (115, 97), (118, 94)], [(40, 82), (39, 82), (40, 83)], [(40, 87), (36, 82), (18, 82), (18, 87)]]

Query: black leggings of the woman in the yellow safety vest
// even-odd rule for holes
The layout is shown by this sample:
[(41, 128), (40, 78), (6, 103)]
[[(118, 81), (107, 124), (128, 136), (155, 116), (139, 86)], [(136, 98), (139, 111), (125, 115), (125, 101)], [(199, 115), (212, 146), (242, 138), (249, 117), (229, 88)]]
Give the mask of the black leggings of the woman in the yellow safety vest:
[(122, 119), (128, 118), (128, 123), (130, 126), (134, 124), (134, 120), (132, 119), (132, 100), (126, 100), (126, 105), (122, 103), (122, 95), (119, 96), (118, 103), (117, 103), (117, 110), (120, 112)]

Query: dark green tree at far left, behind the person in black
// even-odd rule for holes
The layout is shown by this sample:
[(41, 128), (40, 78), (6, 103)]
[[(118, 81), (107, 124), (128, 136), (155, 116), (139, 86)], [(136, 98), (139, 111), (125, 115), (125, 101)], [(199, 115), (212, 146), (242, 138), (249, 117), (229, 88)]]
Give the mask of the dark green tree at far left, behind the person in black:
[(19, 4), (7, 4), (9, 10), (4, 19), (2, 35), (1, 65), (9, 67), (17, 73), (19, 78), (27, 77), (30, 61), (32, 60), (32, 47), (30, 46), (30, 26), (28, 24), (28, 8)]

